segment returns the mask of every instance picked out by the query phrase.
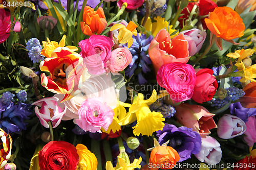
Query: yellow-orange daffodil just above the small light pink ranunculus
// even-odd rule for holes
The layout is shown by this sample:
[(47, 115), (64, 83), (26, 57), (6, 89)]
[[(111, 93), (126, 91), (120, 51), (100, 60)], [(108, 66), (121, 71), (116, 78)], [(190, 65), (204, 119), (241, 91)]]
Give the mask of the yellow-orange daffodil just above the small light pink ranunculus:
[(127, 47), (129, 48), (133, 44), (133, 35), (137, 35), (137, 30), (135, 30), (137, 27), (133, 21), (130, 21), (126, 27), (121, 23), (117, 23), (111, 27), (110, 31), (119, 29), (118, 42), (122, 44), (128, 43)]

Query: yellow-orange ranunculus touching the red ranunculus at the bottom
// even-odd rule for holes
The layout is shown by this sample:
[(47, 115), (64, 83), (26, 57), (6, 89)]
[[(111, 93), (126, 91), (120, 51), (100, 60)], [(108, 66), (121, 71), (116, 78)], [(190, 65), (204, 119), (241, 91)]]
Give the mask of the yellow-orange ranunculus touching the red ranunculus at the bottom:
[(76, 145), (77, 154), (79, 155), (79, 162), (77, 165), (77, 170), (80, 169), (90, 169), (90, 170), (96, 170), (98, 161), (94, 153), (91, 153), (87, 149), (87, 147), (83, 144), (77, 144)]

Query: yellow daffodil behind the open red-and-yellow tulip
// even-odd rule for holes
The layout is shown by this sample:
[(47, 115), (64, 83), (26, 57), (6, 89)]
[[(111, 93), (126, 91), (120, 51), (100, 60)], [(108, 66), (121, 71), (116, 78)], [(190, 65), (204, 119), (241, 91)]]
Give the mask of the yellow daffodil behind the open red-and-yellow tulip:
[[(66, 35), (63, 35), (63, 37), (59, 41), (59, 43), (56, 42), (56, 41), (50, 41), (50, 39), (48, 37), (46, 37), (46, 38), (47, 38), (47, 42), (46, 41), (42, 41), (42, 44), (44, 45), (44, 49), (42, 49), (41, 55), (44, 55), (46, 57), (51, 57), (52, 52), (57, 47), (64, 47), (65, 46)], [(78, 48), (76, 46), (68, 45), (66, 47), (68, 47), (73, 52), (78, 50)]]

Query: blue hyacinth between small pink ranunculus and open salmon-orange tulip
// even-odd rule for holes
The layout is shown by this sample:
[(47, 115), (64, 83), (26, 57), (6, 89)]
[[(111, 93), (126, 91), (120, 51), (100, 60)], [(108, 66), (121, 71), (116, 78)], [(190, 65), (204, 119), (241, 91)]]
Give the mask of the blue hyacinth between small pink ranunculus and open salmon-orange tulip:
[[(125, 69), (125, 74), (131, 77), (134, 74), (136, 69), (140, 69), (142, 72), (146, 73), (151, 71), (148, 64), (151, 64), (151, 59), (147, 54), (148, 47), (150, 46), (150, 42), (153, 39), (152, 36), (146, 38), (145, 34), (137, 34), (137, 36), (133, 35), (133, 44), (129, 48), (130, 52), (133, 55), (132, 62), (129, 64), (129, 67)], [(146, 79), (143, 77), (142, 72), (138, 74), (139, 84), (146, 83)]]

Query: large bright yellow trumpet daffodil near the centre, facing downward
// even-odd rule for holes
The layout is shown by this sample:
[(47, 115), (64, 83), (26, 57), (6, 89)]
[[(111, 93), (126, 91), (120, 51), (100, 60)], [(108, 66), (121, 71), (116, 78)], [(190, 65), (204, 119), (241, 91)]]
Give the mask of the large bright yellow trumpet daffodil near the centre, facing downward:
[(137, 136), (140, 134), (150, 136), (153, 132), (162, 130), (164, 127), (163, 121), (165, 120), (163, 115), (160, 112), (152, 112), (148, 107), (157, 99), (159, 99), (159, 96), (155, 89), (148, 100), (144, 100), (143, 94), (139, 93), (134, 98), (133, 104), (128, 106), (130, 107), (129, 112), (119, 121), (119, 125), (129, 125), (137, 120), (136, 126), (133, 127), (133, 133)]

